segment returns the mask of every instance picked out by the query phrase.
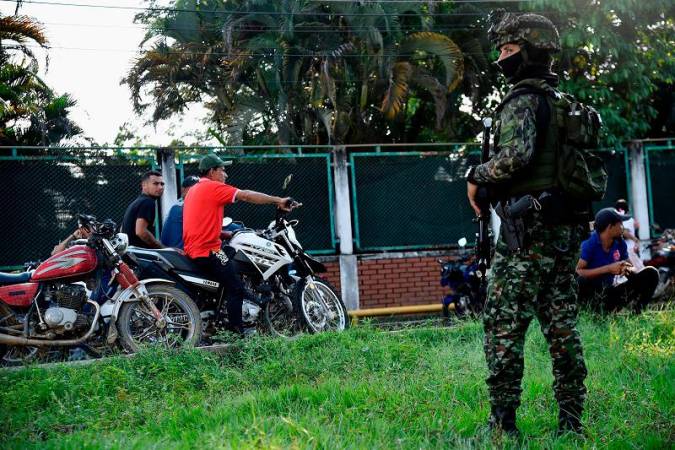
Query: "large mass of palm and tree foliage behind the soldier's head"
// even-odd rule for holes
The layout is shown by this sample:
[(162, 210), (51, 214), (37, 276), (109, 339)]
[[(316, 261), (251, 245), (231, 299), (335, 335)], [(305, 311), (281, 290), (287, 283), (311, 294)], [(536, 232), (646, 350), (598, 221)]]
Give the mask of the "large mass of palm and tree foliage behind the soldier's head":
[[(506, 89), (486, 39), (504, 5), (176, 0), (137, 16), (149, 31), (125, 82), (154, 121), (205, 105), (222, 143), (470, 141)], [(672, 2), (507, 6), (557, 24), (562, 88), (600, 110), (606, 145), (675, 132)]]

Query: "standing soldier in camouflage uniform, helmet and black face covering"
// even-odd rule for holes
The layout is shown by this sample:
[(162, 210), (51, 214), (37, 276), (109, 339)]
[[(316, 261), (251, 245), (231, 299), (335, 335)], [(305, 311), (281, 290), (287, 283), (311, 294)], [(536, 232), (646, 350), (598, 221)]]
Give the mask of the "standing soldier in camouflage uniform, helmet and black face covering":
[[(497, 65), (514, 90), (527, 86), (552, 89), (558, 77), (551, 72), (552, 53), (560, 50), (558, 31), (536, 14), (500, 12), (492, 16), (491, 41), (500, 51)], [(555, 182), (555, 142), (537, 132), (541, 95), (511, 96), (495, 117), (495, 143), (490, 160), (470, 169), (467, 188), (477, 214), (476, 193), (487, 187), (491, 200), (508, 202), (525, 194), (536, 196)], [(554, 126), (549, 122), (549, 126)], [(542, 134), (542, 136), (538, 136)], [(490, 189), (491, 188), (491, 189)], [(518, 251), (497, 243), (484, 311), (485, 356), (489, 376), (490, 428), (518, 434), (525, 333), (537, 318), (553, 360), (553, 389), (560, 408), (559, 430), (581, 432), (586, 397), (581, 340), (576, 329), (577, 302), (574, 268), (583, 227), (552, 223), (546, 208), (529, 213), (526, 244)], [(504, 227), (502, 227), (503, 229)]]

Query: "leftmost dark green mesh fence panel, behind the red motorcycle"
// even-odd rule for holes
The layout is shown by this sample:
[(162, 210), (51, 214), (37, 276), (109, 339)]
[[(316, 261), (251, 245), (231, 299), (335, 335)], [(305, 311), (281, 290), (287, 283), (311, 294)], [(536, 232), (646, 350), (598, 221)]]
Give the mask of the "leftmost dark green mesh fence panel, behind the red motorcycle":
[(80, 213), (119, 224), (153, 162), (91, 152), (2, 158), (0, 267), (47, 258)]

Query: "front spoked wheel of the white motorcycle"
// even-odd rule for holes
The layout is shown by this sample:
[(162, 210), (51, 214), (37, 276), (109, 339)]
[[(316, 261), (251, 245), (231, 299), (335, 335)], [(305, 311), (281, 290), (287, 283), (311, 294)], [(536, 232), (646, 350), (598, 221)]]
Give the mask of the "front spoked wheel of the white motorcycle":
[(349, 328), (347, 308), (335, 288), (320, 278), (305, 278), (295, 290), (296, 310), (311, 333)]

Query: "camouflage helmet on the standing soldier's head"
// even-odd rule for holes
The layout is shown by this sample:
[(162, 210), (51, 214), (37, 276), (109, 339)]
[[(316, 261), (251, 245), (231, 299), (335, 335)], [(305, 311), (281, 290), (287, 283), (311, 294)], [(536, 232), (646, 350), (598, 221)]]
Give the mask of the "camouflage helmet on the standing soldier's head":
[(539, 14), (516, 14), (498, 9), (490, 13), (488, 39), (499, 50), (510, 42), (527, 42), (533, 48), (560, 51), (560, 35), (553, 22)]

